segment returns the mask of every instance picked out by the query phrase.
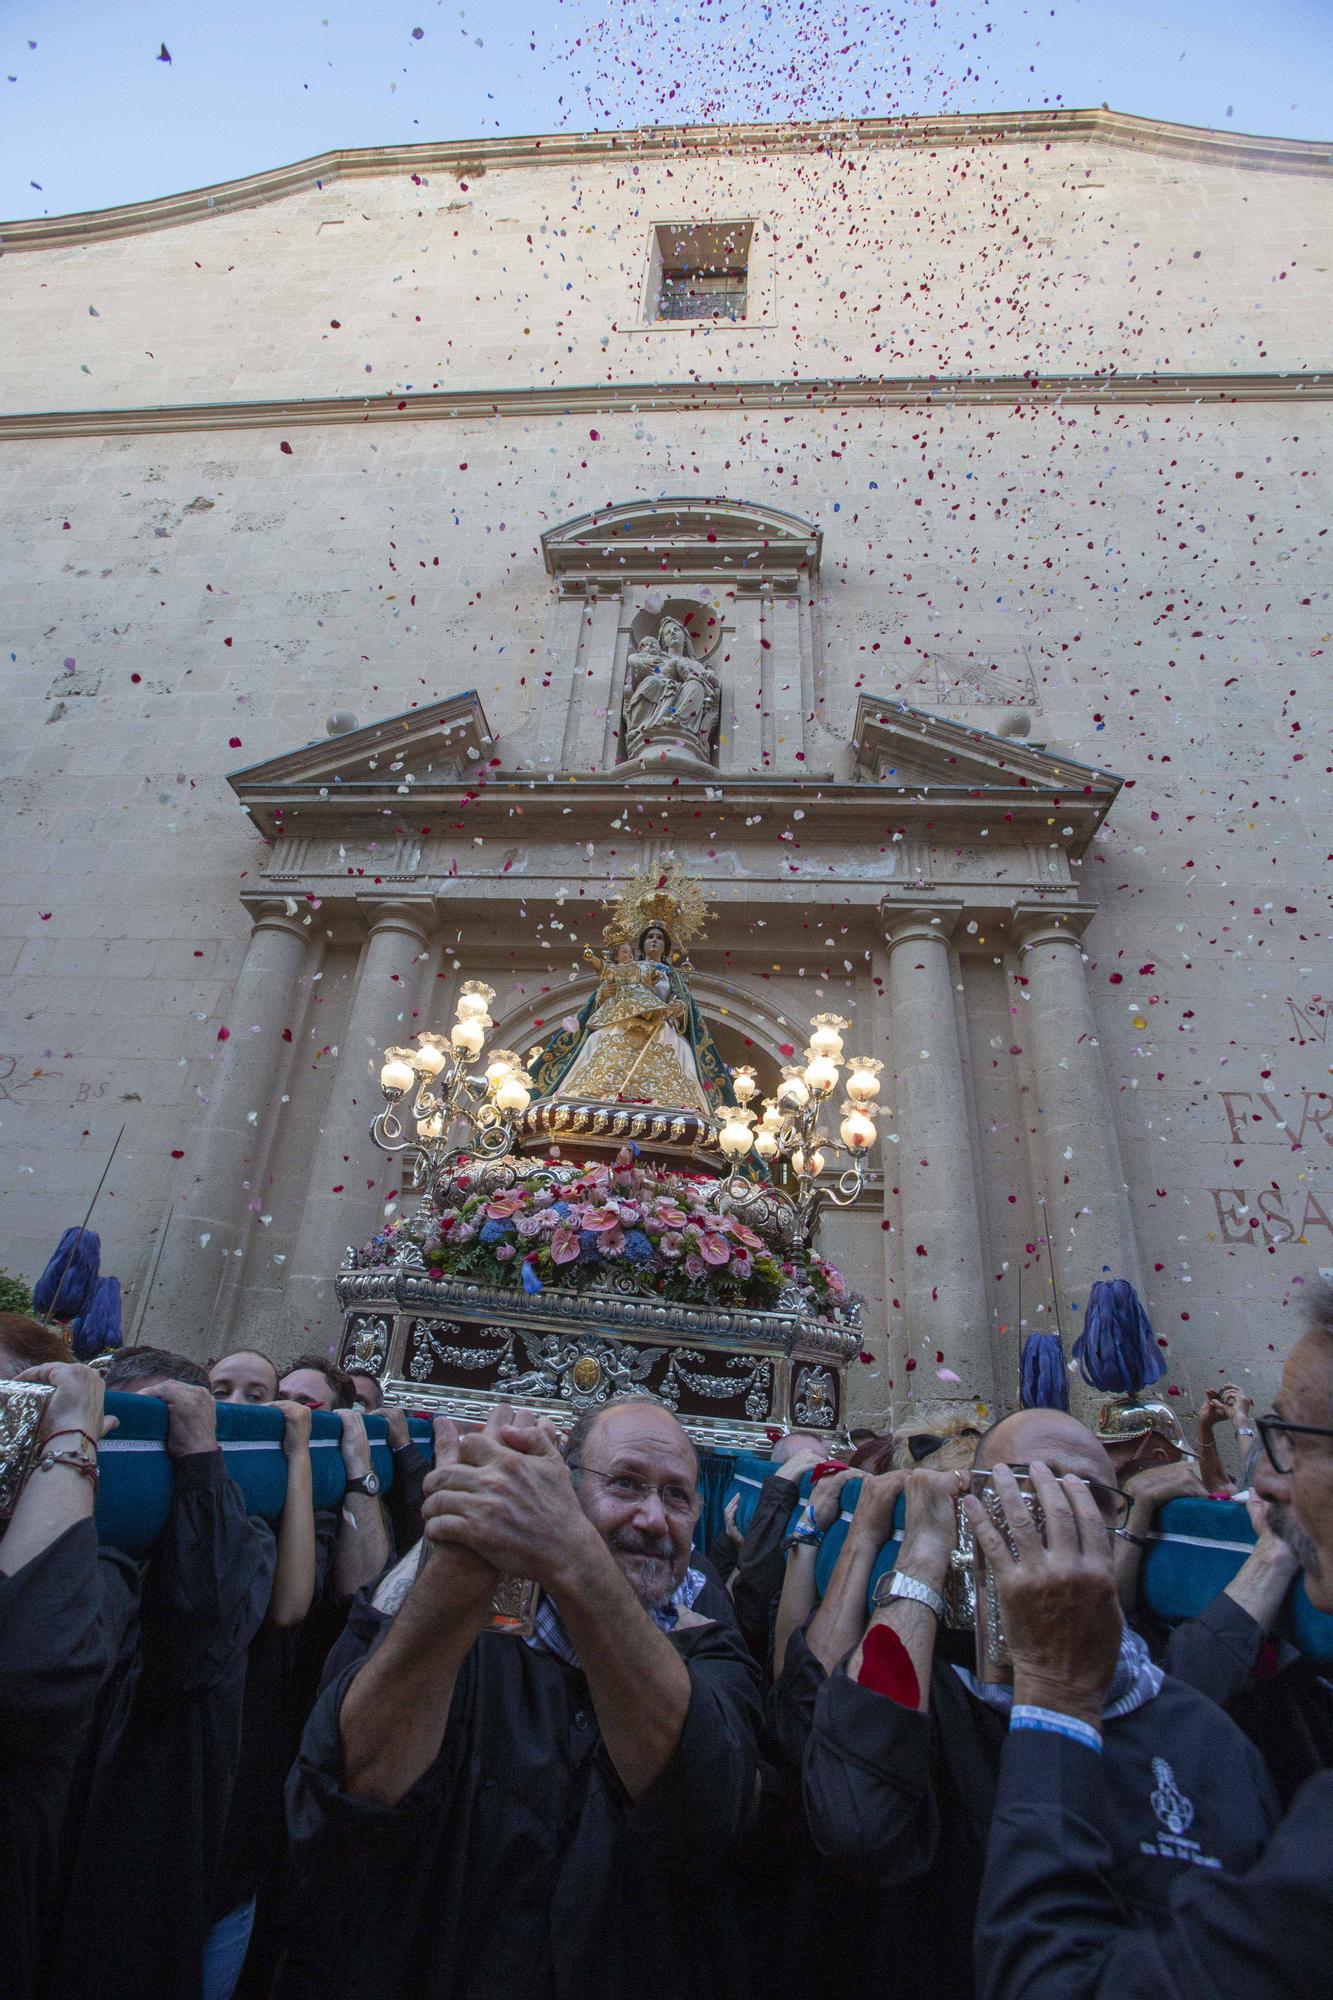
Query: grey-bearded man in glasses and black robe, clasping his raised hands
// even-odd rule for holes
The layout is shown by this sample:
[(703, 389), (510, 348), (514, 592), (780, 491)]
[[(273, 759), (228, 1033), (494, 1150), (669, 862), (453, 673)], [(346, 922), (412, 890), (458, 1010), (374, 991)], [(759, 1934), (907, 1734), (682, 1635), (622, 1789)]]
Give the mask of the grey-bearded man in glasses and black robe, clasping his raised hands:
[[(731, 1854), (761, 1690), (691, 1570), (699, 1460), (620, 1398), (562, 1454), (536, 1418), (436, 1420), (424, 1560), (310, 1718), (288, 1786), (282, 2000), (745, 1992)], [(504, 1576), (542, 1592), (486, 1630)]]

